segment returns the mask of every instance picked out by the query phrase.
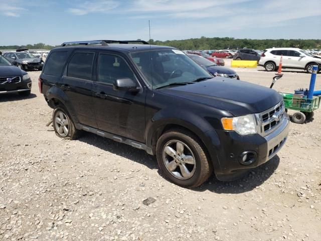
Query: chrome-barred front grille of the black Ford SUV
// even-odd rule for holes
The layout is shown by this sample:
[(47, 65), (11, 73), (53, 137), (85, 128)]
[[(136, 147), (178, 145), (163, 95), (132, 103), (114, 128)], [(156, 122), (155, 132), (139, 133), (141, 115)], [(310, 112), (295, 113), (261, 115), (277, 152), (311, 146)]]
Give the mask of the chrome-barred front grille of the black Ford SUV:
[(260, 122), (261, 135), (268, 135), (283, 121), (285, 117), (284, 102), (281, 101), (272, 108), (259, 113), (257, 117)]

